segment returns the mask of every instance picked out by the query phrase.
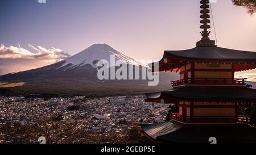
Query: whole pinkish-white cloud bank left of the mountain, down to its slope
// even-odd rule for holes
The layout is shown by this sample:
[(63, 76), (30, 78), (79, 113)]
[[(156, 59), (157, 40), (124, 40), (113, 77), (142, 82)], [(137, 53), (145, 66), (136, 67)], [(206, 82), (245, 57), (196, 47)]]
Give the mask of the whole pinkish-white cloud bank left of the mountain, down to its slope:
[[(0, 45), (0, 75), (40, 68), (64, 60), (70, 55), (61, 49), (50, 49), (28, 44), (28, 49)], [(32, 52), (31, 52), (32, 51)]]

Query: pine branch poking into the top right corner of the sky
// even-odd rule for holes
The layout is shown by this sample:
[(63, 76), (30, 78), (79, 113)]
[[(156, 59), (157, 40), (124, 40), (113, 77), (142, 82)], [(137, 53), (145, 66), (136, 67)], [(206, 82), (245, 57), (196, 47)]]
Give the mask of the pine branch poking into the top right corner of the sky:
[(256, 0), (232, 0), (232, 2), (236, 6), (245, 7), (251, 15), (256, 12)]

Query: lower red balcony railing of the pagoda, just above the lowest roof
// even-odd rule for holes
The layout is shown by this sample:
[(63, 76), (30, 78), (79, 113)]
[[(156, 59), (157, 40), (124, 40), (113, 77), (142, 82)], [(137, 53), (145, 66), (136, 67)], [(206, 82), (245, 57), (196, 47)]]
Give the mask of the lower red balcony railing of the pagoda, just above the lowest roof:
[(182, 116), (179, 113), (171, 113), (170, 118), (184, 123), (246, 123), (250, 122), (249, 116)]

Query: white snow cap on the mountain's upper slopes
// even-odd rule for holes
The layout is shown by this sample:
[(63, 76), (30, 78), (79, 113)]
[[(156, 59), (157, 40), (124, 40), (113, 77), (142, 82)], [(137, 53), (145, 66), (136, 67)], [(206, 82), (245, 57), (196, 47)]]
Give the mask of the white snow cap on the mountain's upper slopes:
[(109, 66), (112, 67), (112, 65), (110, 65), (111, 55), (115, 56), (115, 62), (117, 62), (117, 60), (121, 60), (123, 63), (126, 64), (148, 67), (146, 64), (142, 64), (141, 62), (136, 61), (133, 58), (123, 55), (122, 53), (116, 51), (107, 44), (94, 44), (89, 48), (86, 48), (84, 51), (64, 60), (65, 63), (61, 67), (68, 65), (68, 68), (75, 68), (89, 64), (92, 65), (94, 68), (97, 68), (97, 62), (99, 60), (108, 61)]

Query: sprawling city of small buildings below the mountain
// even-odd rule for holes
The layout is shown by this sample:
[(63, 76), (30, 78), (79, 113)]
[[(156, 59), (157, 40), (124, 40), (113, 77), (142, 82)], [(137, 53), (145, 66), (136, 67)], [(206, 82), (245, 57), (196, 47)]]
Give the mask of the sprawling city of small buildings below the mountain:
[[(73, 98), (1, 97), (0, 126), (33, 125), (38, 120), (61, 116), (61, 123), (80, 123), (80, 130), (95, 135), (125, 136), (127, 130), (141, 123), (163, 122), (168, 104), (144, 102), (143, 96)], [(5, 133), (1, 143), (11, 143)], [(92, 135), (92, 134), (90, 134)], [(88, 142), (88, 141), (87, 141)], [(95, 143), (89, 141), (88, 143)], [(108, 143), (108, 141), (104, 141)]]

